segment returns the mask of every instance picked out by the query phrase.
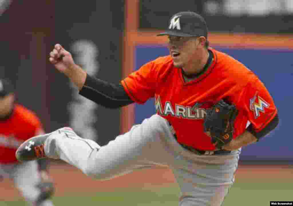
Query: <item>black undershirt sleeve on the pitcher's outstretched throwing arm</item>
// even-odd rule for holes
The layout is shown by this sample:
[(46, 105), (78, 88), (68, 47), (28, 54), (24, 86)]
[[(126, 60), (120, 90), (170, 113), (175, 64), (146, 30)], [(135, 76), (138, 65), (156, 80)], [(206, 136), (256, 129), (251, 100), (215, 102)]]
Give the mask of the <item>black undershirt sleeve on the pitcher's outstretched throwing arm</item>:
[(111, 84), (86, 76), (86, 82), (79, 94), (106, 108), (119, 108), (133, 103), (121, 84)]

